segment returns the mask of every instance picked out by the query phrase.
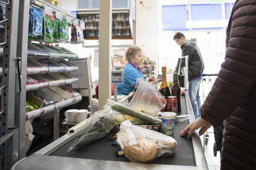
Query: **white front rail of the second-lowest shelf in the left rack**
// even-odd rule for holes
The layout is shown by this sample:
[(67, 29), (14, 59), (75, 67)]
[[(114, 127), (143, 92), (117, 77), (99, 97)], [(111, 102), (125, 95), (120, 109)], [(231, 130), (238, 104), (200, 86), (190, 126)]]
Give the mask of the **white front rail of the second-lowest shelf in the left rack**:
[(67, 85), (67, 84), (75, 83), (75, 82), (78, 82), (78, 78), (35, 83), (35, 84), (27, 85), (27, 91), (34, 91), (34, 90), (38, 90), (41, 88), (49, 88), (49, 87), (56, 87), (56, 86), (60, 86), (60, 85)]

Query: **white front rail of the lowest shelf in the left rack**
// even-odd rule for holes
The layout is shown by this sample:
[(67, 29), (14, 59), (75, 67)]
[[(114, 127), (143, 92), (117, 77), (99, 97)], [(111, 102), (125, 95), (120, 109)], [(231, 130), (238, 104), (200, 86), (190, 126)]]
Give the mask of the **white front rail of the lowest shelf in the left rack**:
[(57, 109), (64, 108), (66, 106), (72, 105), (73, 103), (77, 103), (77, 102), (80, 102), (82, 100), (81, 94), (75, 93), (73, 95), (74, 95), (74, 97), (72, 97), (71, 99), (66, 99), (66, 100), (63, 100), (61, 102), (57, 102), (57, 103), (54, 103), (52, 105), (49, 105), (49, 106), (45, 106), (43, 108), (27, 112), (26, 113), (26, 120), (31, 120), (33, 118), (37, 118), (37, 117), (40, 117), (42, 115), (49, 114), (51, 112), (54, 112)]

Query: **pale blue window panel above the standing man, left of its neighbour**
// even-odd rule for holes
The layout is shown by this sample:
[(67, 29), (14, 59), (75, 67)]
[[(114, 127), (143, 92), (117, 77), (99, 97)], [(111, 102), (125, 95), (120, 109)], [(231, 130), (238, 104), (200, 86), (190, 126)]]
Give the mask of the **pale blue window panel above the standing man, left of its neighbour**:
[(163, 6), (163, 31), (184, 31), (187, 20), (187, 5)]

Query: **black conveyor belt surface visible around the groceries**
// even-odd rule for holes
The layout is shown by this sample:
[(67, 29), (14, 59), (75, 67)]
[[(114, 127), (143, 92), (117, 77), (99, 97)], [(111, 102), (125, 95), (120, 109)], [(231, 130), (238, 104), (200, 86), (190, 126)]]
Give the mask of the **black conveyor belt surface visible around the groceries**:
[[(182, 113), (187, 114), (186, 101), (185, 97), (181, 97), (183, 100)], [(157, 157), (151, 163), (163, 164), (163, 165), (187, 165), (187, 166), (196, 166), (195, 154), (193, 151), (193, 142), (192, 139), (182, 138), (179, 133), (189, 124), (189, 120), (176, 123), (174, 137), (178, 142), (178, 147), (176, 153), (172, 156)], [(125, 157), (116, 157), (115, 150), (116, 146), (111, 146), (111, 141), (108, 138), (102, 138), (99, 141), (93, 142), (84, 148), (78, 150), (73, 150), (67, 152), (70, 145), (73, 144), (75, 139), (68, 142), (63, 147), (59, 148), (57, 151), (51, 154), (51, 156), (61, 156), (61, 157), (76, 157), (82, 159), (96, 159), (96, 160), (112, 160), (119, 162), (130, 162), (130, 160)]]

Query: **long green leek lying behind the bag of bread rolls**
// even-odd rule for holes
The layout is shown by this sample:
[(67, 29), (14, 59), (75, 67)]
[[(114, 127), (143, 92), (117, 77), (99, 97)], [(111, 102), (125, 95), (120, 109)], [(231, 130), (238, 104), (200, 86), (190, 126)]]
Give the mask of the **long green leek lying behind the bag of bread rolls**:
[(161, 124), (161, 120), (155, 117), (152, 117), (151, 115), (144, 114), (143, 112), (136, 111), (133, 108), (130, 108), (128, 106), (124, 106), (120, 103), (115, 102), (114, 105), (111, 106), (112, 109), (114, 109), (117, 112), (122, 112), (123, 114), (129, 115), (131, 117), (138, 118), (140, 120), (148, 121), (149, 123), (153, 124)]

